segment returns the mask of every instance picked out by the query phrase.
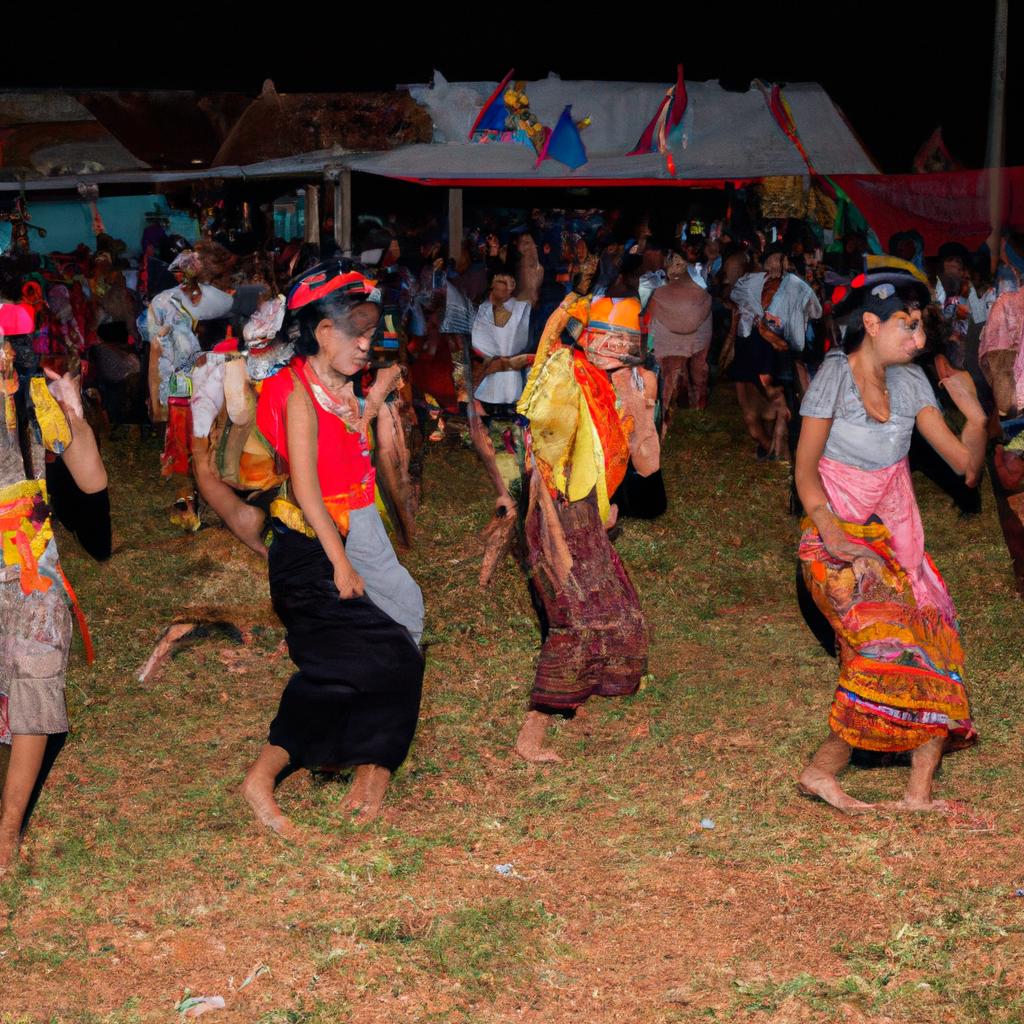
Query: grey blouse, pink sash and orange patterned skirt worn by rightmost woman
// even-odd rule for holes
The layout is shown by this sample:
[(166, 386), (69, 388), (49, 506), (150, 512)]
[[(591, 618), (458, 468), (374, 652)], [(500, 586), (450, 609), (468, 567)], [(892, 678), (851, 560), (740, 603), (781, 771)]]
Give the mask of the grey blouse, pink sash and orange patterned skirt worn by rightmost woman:
[(830, 419), (818, 464), (831, 512), (849, 540), (881, 556), (879, 575), (833, 557), (803, 522), (804, 579), (839, 642), (840, 681), (829, 715), (851, 746), (909, 751), (939, 737), (947, 750), (977, 737), (964, 685), (952, 601), (925, 550), (907, 452), (922, 409), (938, 409), (924, 371), (886, 372), (890, 418), (864, 410), (844, 352), (825, 357), (801, 407)]

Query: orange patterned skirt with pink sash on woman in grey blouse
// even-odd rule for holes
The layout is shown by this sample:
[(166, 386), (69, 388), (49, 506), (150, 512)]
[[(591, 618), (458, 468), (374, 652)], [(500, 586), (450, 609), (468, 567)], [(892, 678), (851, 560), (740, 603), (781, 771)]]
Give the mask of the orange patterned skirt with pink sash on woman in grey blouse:
[[(811, 520), (802, 524), (804, 579), (839, 647), (829, 727), (868, 751), (910, 751), (936, 737), (947, 751), (970, 746), (977, 731), (955, 613), (924, 550), (906, 461), (869, 471), (822, 459), (819, 469), (848, 539), (882, 558), (881, 566), (839, 561)], [(919, 549), (916, 564), (897, 557)]]

